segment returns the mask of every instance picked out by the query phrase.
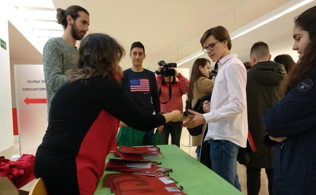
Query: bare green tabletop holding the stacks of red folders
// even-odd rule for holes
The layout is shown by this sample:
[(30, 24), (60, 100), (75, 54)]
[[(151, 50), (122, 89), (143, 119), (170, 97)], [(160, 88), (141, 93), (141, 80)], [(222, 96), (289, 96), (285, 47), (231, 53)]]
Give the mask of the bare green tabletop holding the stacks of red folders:
[[(159, 147), (164, 158), (155, 159), (154, 161), (162, 162), (162, 165), (159, 165), (161, 167), (172, 168), (173, 172), (169, 173), (170, 177), (178, 181), (178, 186), (181, 185), (184, 187), (183, 191), (186, 194), (242, 194), (238, 189), (230, 185), (202, 163), (196, 161), (176, 145), (160, 145)], [(109, 154), (108, 157), (113, 157), (113, 155)], [(109, 188), (103, 188), (104, 176), (109, 173), (116, 172), (104, 171), (94, 195), (113, 194)]]

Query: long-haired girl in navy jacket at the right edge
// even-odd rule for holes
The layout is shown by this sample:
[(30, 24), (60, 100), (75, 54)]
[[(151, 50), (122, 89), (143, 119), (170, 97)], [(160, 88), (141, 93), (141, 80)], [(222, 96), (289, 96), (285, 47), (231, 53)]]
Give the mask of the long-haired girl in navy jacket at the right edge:
[(264, 115), (274, 147), (273, 194), (316, 194), (316, 6), (295, 18), (299, 54), (283, 86), (284, 98)]

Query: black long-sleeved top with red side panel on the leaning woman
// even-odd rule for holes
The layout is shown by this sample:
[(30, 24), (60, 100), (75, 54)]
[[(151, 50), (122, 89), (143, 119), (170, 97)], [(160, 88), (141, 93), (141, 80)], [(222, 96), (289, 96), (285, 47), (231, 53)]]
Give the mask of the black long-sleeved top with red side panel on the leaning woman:
[(141, 111), (114, 79), (64, 84), (52, 100), (48, 129), (36, 152), (36, 177), (52, 178), (58, 170), (78, 182), (80, 191), (93, 192), (85, 183), (102, 176), (120, 120), (143, 131), (166, 122), (163, 115)]

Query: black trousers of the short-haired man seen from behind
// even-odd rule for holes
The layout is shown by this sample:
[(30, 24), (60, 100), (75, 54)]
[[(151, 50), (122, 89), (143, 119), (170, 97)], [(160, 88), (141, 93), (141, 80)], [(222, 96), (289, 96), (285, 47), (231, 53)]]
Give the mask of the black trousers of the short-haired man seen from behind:
[[(260, 168), (248, 167), (247, 166), (247, 194), (258, 195), (260, 191)], [(268, 178), (268, 191), (269, 195), (272, 195), (272, 184), (273, 184), (273, 169), (265, 169), (265, 173)]]

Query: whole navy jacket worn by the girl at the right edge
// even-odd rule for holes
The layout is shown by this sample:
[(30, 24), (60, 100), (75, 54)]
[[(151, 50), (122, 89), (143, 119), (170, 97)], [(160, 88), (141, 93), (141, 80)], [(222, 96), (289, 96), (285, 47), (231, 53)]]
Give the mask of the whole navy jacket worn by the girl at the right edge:
[[(316, 71), (302, 81), (264, 115), (268, 135), (287, 137), (278, 143), (265, 137), (274, 148), (273, 194), (316, 194)], [(306, 87), (307, 86), (307, 87)], [(302, 88), (300, 88), (302, 87)], [(300, 88), (300, 90), (298, 90)]]

